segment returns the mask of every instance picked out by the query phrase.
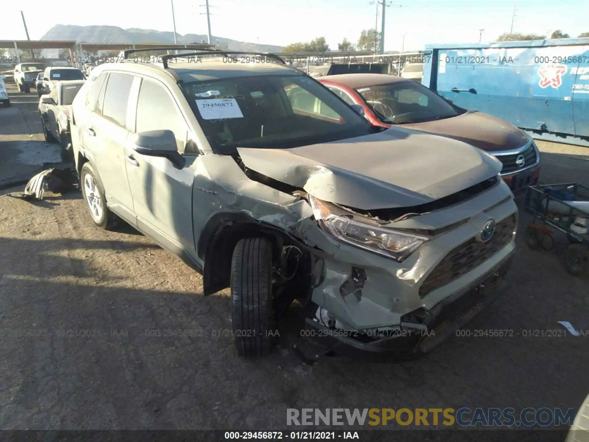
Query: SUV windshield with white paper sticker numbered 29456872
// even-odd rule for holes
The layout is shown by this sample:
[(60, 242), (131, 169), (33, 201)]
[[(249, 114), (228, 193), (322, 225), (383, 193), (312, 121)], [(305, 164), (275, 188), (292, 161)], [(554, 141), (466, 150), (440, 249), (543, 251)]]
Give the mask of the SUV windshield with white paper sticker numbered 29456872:
[(365, 118), (305, 75), (256, 75), (183, 84), (217, 153), (289, 149), (373, 133)]

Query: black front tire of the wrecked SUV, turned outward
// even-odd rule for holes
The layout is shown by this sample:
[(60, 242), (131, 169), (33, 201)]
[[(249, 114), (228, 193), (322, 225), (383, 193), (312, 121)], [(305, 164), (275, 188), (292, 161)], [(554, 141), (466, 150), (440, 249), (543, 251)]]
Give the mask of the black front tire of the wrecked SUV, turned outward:
[(246, 358), (269, 354), (276, 345), (269, 239), (244, 238), (235, 246), (231, 304), (237, 354)]

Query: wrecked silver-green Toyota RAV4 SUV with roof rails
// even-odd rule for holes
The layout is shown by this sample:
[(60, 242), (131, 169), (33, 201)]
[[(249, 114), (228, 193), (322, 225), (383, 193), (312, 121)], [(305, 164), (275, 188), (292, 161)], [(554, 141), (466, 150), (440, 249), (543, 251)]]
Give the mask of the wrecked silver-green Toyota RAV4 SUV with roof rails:
[(412, 357), (505, 289), (518, 212), (491, 155), (373, 127), (273, 54), (131, 52), (72, 106), (84, 200), (200, 272), (205, 296), (230, 287), (240, 355), (267, 354), (299, 299), (313, 345)]

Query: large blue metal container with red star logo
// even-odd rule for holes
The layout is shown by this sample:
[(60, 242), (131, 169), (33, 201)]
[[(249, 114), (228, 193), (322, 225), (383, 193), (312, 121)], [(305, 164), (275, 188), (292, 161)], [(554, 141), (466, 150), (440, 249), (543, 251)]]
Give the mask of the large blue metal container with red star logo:
[(534, 138), (589, 146), (589, 38), (426, 45), (422, 84)]

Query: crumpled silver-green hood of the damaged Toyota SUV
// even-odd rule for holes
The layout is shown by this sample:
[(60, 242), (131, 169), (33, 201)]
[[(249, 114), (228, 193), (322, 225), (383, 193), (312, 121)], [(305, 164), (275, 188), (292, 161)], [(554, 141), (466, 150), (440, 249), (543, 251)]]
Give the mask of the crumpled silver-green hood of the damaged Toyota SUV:
[(462, 141), (403, 128), (294, 149), (237, 151), (251, 170), (363, 210), (429, 203), (481, 183), (502, 167)]

